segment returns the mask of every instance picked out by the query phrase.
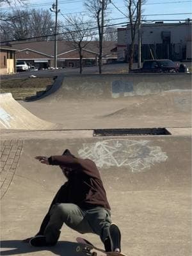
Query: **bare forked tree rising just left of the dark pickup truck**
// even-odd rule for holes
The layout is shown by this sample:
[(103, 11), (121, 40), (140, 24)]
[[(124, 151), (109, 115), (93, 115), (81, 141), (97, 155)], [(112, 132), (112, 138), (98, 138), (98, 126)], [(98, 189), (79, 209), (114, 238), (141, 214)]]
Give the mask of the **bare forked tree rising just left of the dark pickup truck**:
[(132, 63), (134, 58), (134, 44), (136, 40), (136, 33), (141, 22), (141, 6), (145, 0), (125, 0), (125, 4), (128, 9), (128, 17), (131, 29), (131, 45), (129, 45), (129, 71), (132, 69)]

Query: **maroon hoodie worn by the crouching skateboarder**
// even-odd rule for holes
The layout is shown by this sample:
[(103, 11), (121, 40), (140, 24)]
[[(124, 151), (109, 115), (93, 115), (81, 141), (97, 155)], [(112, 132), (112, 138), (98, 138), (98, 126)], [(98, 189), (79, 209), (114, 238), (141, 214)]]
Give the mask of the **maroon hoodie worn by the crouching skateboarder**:
[(72, 156), (51, 156), (49, 164), (72, 169), (63, 192), (66, 203), (77, 204), (82, 208), (100, 206), (110, 209), (99, 170), (92, 160)]

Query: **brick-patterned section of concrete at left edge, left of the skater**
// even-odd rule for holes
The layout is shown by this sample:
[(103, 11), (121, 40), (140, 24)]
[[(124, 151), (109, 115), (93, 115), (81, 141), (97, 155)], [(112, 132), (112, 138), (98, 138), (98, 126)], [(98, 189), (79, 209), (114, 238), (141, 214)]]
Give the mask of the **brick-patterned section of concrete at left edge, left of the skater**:
[(1, 140), (1, 168), (0, 168), (0, 184), (1, 198), (12, 182), (19, 157), (22, 151), (22, 140)]

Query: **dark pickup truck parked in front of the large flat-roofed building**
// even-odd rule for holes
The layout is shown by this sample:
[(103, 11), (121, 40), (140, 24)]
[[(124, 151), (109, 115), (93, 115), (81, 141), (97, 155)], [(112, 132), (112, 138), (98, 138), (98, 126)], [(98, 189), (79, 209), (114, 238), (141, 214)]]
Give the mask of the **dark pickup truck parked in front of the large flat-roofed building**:
[[(181, 64), (184, 66), (183, 64)], [(180, 65), (180, 66), (181, 66)], [(143, 67), (133, 69), (133, 73), (175, 73), (175, 72), (188, 72), (188, 68), (180, 68), (172, 60), (145, 60)]]

